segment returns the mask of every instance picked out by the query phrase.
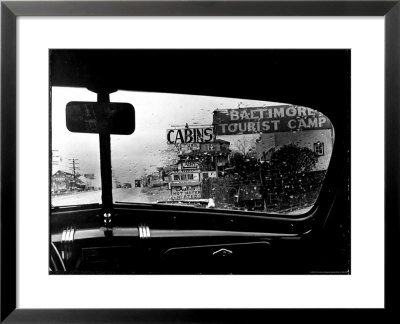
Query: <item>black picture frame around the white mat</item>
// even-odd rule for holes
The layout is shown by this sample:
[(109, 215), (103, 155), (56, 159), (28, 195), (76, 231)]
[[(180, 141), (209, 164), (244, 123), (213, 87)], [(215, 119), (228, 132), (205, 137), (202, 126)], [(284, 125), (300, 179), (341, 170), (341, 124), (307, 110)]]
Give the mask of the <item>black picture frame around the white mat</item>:
[[(19, 16), (384, 16), (385, 317), (399, 288), (400, 1), (2, 1), (1, 2), (1, 316), (5, 323), (249, 322), (282, 310), (16, 308), (16, 19)], [(371, 234), (372, 235), (372, 234)], [(373, 239), (373, 236), (371, 236)], [(61, 293), (61, 289), (60, 289)], [(54, 296), (55, 298), (57, 296)], [(269, 313), (266, 313), (269, 312)], [(278, 313), (278, 314), (277, 314)], [(331, 312), (329, 312), (331, 313)], [(349, 316), (347, 311), (344, 316)], [(297, 320), (308, 311), (294, 310)], [(324, 318), (327, 314), (321, 314)], [(328, 315), (331, 317), (331, 315)], [(339, 315), (342, 316), (342, 315)], [(367, 315), (374, 320), (371, 313)], [(332, 318), (332, 317), (331, 317)], [(378, 317), (377, 317), (378, 318)], [(321, 319), (321, 318), (320, 318)], [(349, 318), (343, 318), (346, 320)], [(251, 320), (251, 321), (253, 321)]]

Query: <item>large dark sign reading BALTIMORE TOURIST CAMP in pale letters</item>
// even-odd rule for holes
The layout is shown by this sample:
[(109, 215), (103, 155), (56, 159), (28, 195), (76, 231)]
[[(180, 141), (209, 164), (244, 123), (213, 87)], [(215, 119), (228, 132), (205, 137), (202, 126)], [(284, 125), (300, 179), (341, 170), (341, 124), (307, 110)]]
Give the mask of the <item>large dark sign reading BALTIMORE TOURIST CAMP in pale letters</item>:
[(320, 112), (292, 105), (214, 110), (213, 125), (215, 135), (332, 128)]

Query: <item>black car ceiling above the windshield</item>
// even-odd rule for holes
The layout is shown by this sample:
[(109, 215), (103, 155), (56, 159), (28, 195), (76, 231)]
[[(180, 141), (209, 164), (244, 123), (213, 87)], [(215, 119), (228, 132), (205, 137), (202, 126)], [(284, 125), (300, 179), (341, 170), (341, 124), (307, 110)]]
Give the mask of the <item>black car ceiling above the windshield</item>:
[[(321, 110), (349, 86), (350, 51), (52, 50), (51, 85), (195, 94)], [(347, 78), (347, 79), (346, 79)]]

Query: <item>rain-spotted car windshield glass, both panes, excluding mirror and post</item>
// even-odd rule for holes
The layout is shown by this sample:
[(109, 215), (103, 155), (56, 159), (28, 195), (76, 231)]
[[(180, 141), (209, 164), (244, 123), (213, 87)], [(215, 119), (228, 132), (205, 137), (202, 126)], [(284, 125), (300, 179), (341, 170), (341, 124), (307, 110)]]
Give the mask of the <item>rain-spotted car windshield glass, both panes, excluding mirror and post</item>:
[[(66, 128), (79, 88), (52, 88), (53, 206), (101, 203), (99, 137)], [(114, 203), (298, 215), (314, 205), (334, 130), (295, 103), (117, 91), (135, 109), (131, 135), (111, 135)]]

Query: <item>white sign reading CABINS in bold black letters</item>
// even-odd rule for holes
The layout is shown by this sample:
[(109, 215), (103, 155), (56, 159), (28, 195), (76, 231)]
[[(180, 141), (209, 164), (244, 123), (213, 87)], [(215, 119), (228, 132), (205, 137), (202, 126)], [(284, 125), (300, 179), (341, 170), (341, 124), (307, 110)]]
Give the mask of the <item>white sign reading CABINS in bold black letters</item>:
[(209, 143), (214, 141), (212, 127), (167, 129), (168, 144)]

